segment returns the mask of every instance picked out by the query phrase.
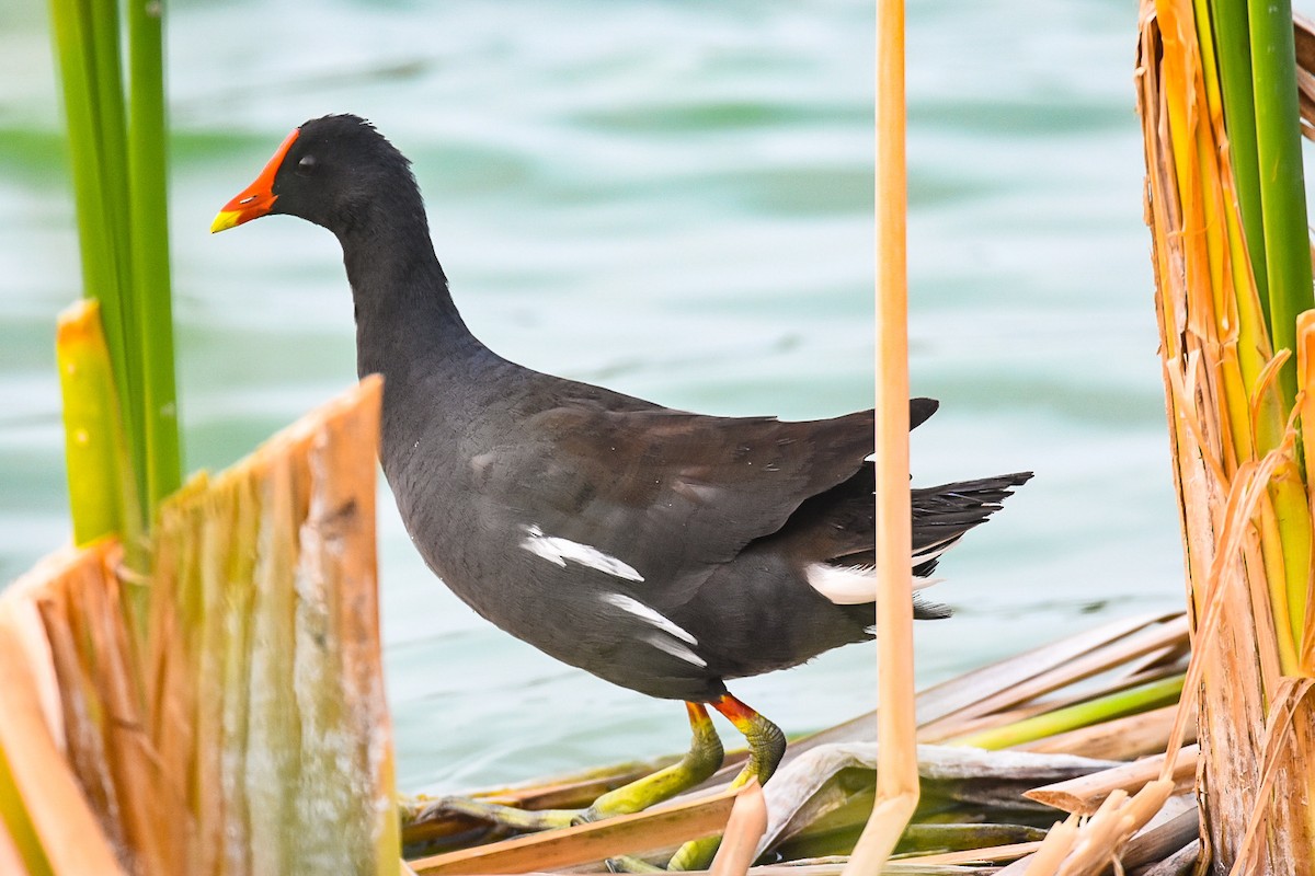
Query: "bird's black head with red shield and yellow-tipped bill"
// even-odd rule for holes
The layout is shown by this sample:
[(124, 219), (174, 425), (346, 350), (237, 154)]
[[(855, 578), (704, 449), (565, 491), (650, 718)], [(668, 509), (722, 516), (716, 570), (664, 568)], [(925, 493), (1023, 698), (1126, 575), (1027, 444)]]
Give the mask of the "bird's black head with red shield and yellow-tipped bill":
[(396, 209), (397, 201), (414, 209), (412, 200), (418, 194), (410, 162), (373, 125), (359, 116), (325, 116), (283, 141), (255, 181), (214, 217), (210, 231), (281, 213), (342, 236), (372, 210)]

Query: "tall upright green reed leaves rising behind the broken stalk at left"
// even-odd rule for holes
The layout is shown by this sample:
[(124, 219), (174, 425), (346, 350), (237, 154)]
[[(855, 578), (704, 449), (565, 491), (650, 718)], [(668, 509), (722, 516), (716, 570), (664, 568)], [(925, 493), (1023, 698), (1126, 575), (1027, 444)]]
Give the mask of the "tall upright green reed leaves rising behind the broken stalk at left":
[[(141, 532), (181, 477), (166, 227), (163, 39), (159, 5), (128, 4), (130, 72), (112, 1), (51, 0), (72, 156), (84, 294), (101, 302)], [(153, 12), (154, 9), (154, 12)], [(84, 402), (70, 401), (75, 406)], [(95, 508), (72, 504), (75, 529)], [(101, 533), (103, 535), (103, 533)]]

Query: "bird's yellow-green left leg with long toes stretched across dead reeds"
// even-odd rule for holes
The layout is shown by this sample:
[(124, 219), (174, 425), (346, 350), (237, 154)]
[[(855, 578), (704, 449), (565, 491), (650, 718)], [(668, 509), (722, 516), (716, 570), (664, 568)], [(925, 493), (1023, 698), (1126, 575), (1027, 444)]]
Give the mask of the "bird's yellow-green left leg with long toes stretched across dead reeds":
[(685, 756), (652, 775), (609, 791), (594, 800), (588, 809), (526, 810), (467, 797), (444, 797), (425, 806), (416, 820), (467, 816), (512, 830), (548, 830), (625, 816), (669, 800), (707, 779), (722, 766), (722, 741), (711, 718), (707, 717), (707, 709), (702, 703), (686, 703), (685, 708), (689, 711), (689, 726), (693, 730), (693, 742)]

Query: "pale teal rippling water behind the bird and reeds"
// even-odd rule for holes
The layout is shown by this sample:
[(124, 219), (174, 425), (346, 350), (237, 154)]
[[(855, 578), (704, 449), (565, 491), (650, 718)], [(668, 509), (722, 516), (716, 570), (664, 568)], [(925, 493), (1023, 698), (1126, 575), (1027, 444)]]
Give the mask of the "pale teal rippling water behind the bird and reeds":
[[(333, 238), (209, 222), (295, 125), (412, 156), (458, 303), (522, 362), (667, 405), (872, 397), (872, 4), (171, 5), (183, 422), (220, 468), (354, 380)], [(942, 411), (917, 482), (1034, 469), (943, 563), (923, 682), (1181, 604), (1134, 112), (1131, 3), (910, 4), (910, 341)], [(62, 544), (51, 336), (79, 290), (42, 0), (0, 11), (0, 580)], [(380, 503), (408, 789), (675, 751), (682, 711), (560, 666), (426, 571)], [(735, 692), (800, 733), (872, 707), (874, 647)], [(730, 733), (730, 732), (729, 732)]]

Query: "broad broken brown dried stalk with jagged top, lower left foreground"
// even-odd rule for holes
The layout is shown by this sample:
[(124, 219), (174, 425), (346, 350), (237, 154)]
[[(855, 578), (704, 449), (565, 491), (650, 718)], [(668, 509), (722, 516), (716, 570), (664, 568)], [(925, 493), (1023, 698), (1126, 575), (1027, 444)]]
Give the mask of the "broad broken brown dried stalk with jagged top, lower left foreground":
[[(33, 825), (75, 776), (93, 826), (68, 846), (101, 842), (141, 876), (398, 871), (373, 542), (379, 402), (379, 380), (366, 381), (171, 498), (141, 637), (113, 544), (4, 594), (0, 617), (22, 623), (0, 628), (0, 646), (25, 644), (24, 675), (45, 695), (8, 708), (14, 693), (0, 686), (0, 746), (22, 751), (12, 741), (39, 726), (67, 750), (38, 760), (50, 774), (39, 783), (14, 774)], [(36, 835), (53, 876), (116, 872), (59, 863)]]

